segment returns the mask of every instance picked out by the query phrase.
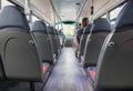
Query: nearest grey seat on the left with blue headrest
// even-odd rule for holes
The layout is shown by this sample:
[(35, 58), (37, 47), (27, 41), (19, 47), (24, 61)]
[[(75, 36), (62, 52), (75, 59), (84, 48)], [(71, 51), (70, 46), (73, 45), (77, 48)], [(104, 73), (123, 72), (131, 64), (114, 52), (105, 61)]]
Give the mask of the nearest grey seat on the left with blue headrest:
[(42, 81), (42, 67), (29, 33), (24, 13), (18, 7), (4, 7), (0, 13), (0, 54), (6, 78)]

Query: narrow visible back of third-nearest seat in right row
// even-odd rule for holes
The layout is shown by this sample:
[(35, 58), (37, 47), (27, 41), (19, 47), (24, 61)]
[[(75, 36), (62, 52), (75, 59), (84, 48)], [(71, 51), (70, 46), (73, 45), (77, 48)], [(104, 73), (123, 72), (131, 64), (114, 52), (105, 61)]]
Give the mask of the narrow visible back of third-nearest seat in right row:
[(90, 30), (91, 30), (92, 24), (88, 24), (86, 28), (83, 31), (83, 34), (81, 36), (81, 40), (80, 40), (80, 48), (79, 48), (79, 55), (83, 55), (84, 54), (84, 48), (85, 48), (85, 42), (86, 42), (86, 38), (90, 34)]

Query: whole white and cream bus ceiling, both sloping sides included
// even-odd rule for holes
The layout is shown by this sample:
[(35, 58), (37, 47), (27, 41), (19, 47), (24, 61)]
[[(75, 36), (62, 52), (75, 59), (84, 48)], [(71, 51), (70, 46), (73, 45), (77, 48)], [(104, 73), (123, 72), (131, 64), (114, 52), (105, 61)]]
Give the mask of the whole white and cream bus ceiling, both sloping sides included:
[[(12, 1), (24, 4), (25, 0)], [(105, 13), (105, 11), (113, 9), (123, 1), (125, 0), (94, 0), (93, 18), (102, 16)], [(90, 7), (92, 6), (92, 0), (30, 0), (31, 9), (35, 11), (34, 13), (39, 14), (39, 17), (47, 20), (48, 22), (54, 23), (51, 2), (63, 21), (74, 21), (76, 19), (81, 21), (84, 17), (90, 18)], [(80, 4), (78, 6), (76, 3)]]

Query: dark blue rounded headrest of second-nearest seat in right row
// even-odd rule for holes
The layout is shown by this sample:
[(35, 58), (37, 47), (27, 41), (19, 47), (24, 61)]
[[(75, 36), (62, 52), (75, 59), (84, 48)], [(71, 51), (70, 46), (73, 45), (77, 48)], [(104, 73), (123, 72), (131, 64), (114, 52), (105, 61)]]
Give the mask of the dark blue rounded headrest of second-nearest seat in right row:
[(111, 32), (111, 24), (108, 19), (99, 18), (94, 21), (92, 33), (94, 32)]

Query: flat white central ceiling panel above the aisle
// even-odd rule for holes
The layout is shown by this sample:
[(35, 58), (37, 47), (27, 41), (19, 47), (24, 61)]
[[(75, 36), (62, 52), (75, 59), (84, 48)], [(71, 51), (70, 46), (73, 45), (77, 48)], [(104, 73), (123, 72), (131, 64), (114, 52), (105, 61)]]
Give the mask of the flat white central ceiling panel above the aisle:
[(85, 0), (52, 0), (62, 21), (75, 21)]

